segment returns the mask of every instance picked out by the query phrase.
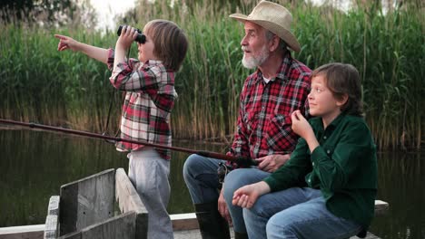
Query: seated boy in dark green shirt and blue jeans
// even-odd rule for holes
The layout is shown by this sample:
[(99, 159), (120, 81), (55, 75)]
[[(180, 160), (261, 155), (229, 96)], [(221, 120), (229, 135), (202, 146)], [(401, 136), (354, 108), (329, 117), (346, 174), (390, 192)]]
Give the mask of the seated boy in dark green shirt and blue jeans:
[(233, 194), (250, 238), (349, 238), (371, 225), (376, 148), (361, 117), (359, 72), (349, 64), (321, 66), (311, 74), (308, 99), (315, 118), (309, 124), (292, 113), (301, 139), (291, 159)]

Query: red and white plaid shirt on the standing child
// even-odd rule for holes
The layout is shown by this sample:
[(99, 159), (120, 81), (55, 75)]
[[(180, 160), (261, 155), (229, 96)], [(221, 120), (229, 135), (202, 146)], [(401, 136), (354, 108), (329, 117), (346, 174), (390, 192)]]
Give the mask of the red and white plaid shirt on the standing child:
[[(113, 49), (109, 49), (108, 67), (114, 69)], [(177, 98), (174, 72), (167, 71), (161, 61), (143, 63), (130, 59), (119, 63), (109, 80), (114, 88), (126, 92), (121, 138), (171, 146), (170, 112)], [(143, 145), (117, 142), (116, 148), (129, 151), (143, 148)], [(170, 150), (157, 150), (163, 158), (171, 158)]]

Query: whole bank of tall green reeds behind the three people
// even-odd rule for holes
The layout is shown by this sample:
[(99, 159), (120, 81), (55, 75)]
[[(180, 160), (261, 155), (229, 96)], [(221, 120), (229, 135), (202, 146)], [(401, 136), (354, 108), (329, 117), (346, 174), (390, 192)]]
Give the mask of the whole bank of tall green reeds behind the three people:
[[(253, 5), (239, 11), (248, 14)], [(425, 119), (424, 10), (343, 13), (330, 7), (287, 6), (301, 43), (297, 59), (311, 69), (347, 62), (361, 72), (366, 118), (379, 147), (420, 148)], [(235, 129), (239, 92), (252, 71), (242, 67), (242, 24), (228, 17), (229, 9), (206, 0), (191, 7), (141, 4), (126, 18), (140, 28), (154, 18), (170, 19), (189, 37), (189, 53), (176, 77), (174, 138), (230, 139)], [(0, 31), (2, 118), (101, 131), (113, 100), (110, 126), (117, 128), (122, 95), (111, 94), (110, 72), (83, 54), (58, 53), (53, 37), (64, 33), (84, 43), (114, 47), (114, 31), (102, 34), (83, 26), (46, 30), (25, 24), (0, 24)]]

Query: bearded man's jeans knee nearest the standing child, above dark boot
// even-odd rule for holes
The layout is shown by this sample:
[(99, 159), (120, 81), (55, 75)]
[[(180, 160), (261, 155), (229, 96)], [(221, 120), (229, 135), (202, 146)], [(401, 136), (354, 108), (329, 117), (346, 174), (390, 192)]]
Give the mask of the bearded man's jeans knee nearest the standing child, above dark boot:
[(205, 158), (193, 154), (186, 159), (183, 165), (183, 177), (193, 204), (216, 202), (219, 197), (220, 183), (217, 169), (220, 162), (214, 158)]

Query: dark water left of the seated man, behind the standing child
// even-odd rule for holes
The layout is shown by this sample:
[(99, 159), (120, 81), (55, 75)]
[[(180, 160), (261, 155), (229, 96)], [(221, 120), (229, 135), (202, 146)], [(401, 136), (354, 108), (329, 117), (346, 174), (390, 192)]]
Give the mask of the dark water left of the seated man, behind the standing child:
[[(173, 146), (224, 152), (222, 145), (174, 142)], [(125, 153), (102, 139), (87, 139), (30, 130), (0, 129), (0, 227), (44, 224), (50, 196), (60, 186), (103, 171), (123, 167)], [(170, 214), (193, 212), (182, 168), (187, 153), (173, 152)]]

